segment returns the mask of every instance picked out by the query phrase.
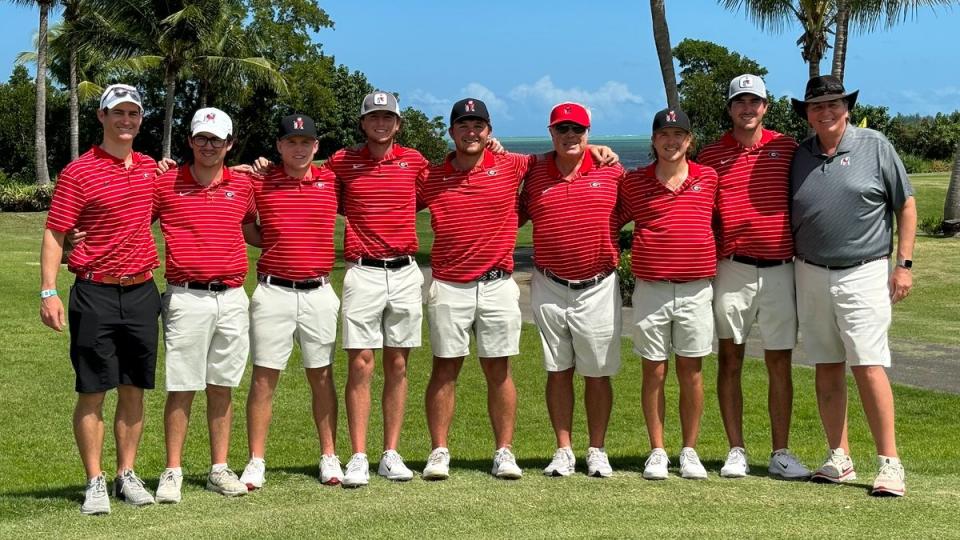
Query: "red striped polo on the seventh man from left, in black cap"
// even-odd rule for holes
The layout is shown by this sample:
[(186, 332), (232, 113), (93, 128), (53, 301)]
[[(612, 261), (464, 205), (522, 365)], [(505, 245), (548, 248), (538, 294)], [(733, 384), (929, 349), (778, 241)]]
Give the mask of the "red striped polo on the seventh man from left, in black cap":
[(633, 274), (647, 281), (694, 281), (717, 273), (713, 234), (717, 173), (692, 161), (676, 191), (656, 176), (656, 162), (620, 183), (620, 223), (634, 222)]

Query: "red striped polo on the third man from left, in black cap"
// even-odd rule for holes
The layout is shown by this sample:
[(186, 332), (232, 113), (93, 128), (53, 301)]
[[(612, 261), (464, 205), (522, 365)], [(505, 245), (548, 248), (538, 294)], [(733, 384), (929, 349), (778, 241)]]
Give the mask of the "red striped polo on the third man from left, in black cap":
[(275, 166), (254, 180), (263, 252), (257, 271), (285, 279), (312, 279), (333, 269), (337, 180), (333, 171), (310, 167), (293, 178)]

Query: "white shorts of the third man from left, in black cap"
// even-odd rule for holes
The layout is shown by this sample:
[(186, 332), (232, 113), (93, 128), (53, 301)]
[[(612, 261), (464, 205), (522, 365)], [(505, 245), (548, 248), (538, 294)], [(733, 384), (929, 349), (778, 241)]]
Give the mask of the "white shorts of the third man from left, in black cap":
[(329, 283), (310, 290), (257, 284), (250, 301), (253, 365), (285, 369), (297, 341), (303, 367), (329, 366), (339, 310), (340, 299)]

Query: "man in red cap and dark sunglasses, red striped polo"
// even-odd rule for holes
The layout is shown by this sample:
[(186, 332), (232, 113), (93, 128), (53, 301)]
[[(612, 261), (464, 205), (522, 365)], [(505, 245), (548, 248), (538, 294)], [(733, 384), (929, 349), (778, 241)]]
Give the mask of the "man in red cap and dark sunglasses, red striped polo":
[(590, 113), (560, 103), (550, 113), (553, 152), (527, 173), (520, 222), (533, 221), (533, 316), (547, 370), (547, 410), (557, 438), (548, 476), (574, 473), (573, 375), (584, 377), (587, 474), (613, 474), (604, 448), (620, 368), (620, 286), (616, 275), (620, 165), (596, 167), (587, 152)]

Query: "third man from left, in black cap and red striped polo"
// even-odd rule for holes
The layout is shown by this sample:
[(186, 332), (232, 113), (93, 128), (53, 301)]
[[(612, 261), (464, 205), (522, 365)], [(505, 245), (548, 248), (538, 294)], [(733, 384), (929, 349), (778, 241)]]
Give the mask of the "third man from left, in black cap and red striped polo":
[(293, 342), (313, 394), (313, 419), (320, 439), (320, 481), (343, 478), (336, 455), (337, 394), (333, 353), (340, 300), (330, 286), (337, 183), (331, 171), (313, 165), (317, 130), (301, 114), (283, 118), (277, 135), (281, 163), (254, 182), (263, 251), (250, 301), (253, 381), (247, 399), (250, 461), (240, 477), (249, 489), (263, 486), (267, 431), (273, 395)]

